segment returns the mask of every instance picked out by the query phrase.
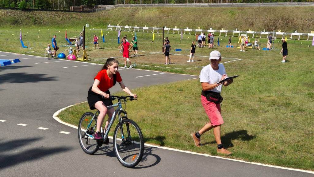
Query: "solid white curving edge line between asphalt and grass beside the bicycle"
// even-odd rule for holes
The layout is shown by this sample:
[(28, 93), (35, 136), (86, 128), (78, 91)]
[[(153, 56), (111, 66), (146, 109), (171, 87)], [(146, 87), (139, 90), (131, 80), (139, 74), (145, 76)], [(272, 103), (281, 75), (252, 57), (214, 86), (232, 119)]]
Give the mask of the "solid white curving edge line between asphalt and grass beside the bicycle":
[[(86, 102), (86, 101), (84, 101), (84, 102)], [(84, 102), (81, 102), (81, 103), (84, 103)], [(78, 104), (79, 104), (79, 103), (78, 103)], [(77, 104), (74, 104), (74, 105), (77, 105)], [(67, 125), (67, 126), (69, 126), (69, 127), (78, 129), (77, 126), (72, 125), (72, 124), (69, 124), (69, 123), (66, 123), (66, 122), (63, 122), (61, 119), (59, 119), (59, 118), (57, 117), (61, 111), (65, 110), (65, 109), (67, 109), (67, 108), (69, 108), (69, 107), (72, 107), (72, 106), (74, 106), (74, 105), (70, 105), (70, 106), (67, 106), (67, 107), (64, 107), (64, 108), (58, 110), (57, 112), (55, 112), (55, 113), (52, 115), (52, 117), (53, 117), (56, 121), (58, 121), (59, 123), (62, 123), (62, 124)], [(112, 136), (108, 136), (108, 138), (113, 139)], [(170, 147), (164, 147), (164, 146), (156, 146), (156, 145), (151, 145), (151, 144), (147, 144), (147, 143), (144, 143), (144, 145), (145, 145), (145, 146), (150, 146), (150, 147), (155, 147), (155, 148), (160, 148), (160, 149), (171, 150), (171, 151), (178, 151), (178, 152), (184, 152), (184, 153), (189, 153), (189, 154), (201, 155), (201, 156), (204, 156), (204, 157), (214, 157), (214, 158), (220, 158), (220, 159), (231, 160), (231, 161), (236, 161), (236, 162), (250, 163), (250, 164), (254, 164), (254, 165), (261, 165), (261, 166), (266, 166), (266, 167), (280, 168), (280, 169), (285, 169), (285, 170), (292, 170), (292, 171), (299, 171), (299, 172), (314, 174), (314, 171), (310, 171), (310, 170), (302, 170), (302, 169), (298, 169), (298, 168), (280, 167), (280, 166), (268, 165), (268, 164), (264, 164), (264, 163), (247, 162), (247, 161), (244, 161), (244, 160), (231, 159), (231, 158), (225, 158), (225, 157), (220, 157), (220, 156), (212, 156), (212, 155), (208, 155), (208, 154), (202, 154), (202, 153), (197, 153), (197, 152), (192, 152), (192, 151), (184, 151), (184, 150), (179, 150), (179, 149), (170, 148)]]

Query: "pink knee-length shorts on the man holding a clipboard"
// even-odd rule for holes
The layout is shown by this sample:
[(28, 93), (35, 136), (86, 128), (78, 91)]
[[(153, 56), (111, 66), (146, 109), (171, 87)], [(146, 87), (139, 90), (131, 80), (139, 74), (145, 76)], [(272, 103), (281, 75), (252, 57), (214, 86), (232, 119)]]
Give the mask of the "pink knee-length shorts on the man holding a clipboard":
[(201, 102), (210, 120), (210, 123), (212, 123), (213, 126), (224, 123), (224, 120), (221, 117), (220, 104), (208, 101), (203, 95), (201, 95)]

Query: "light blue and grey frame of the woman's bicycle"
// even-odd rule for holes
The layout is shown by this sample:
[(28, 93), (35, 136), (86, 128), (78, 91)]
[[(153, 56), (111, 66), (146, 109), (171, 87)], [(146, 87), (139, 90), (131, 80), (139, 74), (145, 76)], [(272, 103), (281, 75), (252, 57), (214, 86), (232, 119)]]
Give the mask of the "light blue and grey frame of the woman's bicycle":
[[(102, 128), (102, 127), (100, 128), (101, 136), (103, 137), (103, 139), (106, 139), (106, 137), (108, 136), (108, 133), (109, 133), (109, 131), (110, 131), (110, 128), (111, 128), (113, 122), (114, 122), (115, 119), (116, 119), (116, 115), (118, 115), (118, 117), (119, 117), (120, 129), (121, 129), (121, 135), (122, 135), (122, 141), (124, 142), (124, 134), (123, 134), (123, 129), (122, 129), (122, 118), (127, 117), (127, 112), (122, 110), (122, 104), (121, 104), (121, 101), (120, 101), (120, 100), (118, 101), (118, 103), (116, 103), (116, 104), (114, 104), (114, 105), (107, 106), (107, 109), (109, 110), (109, 109), (114, 108), (114, 107), (117, 107), (117, 108), (116, 108), (116, 110), (115, 110), (115, 111), (113, 112), (113, 114), (112, 114), (111, 120), (110, 120), (110, 122), (109, 122), (107, 131), (105, 132), (105, 134), (104, 134), (104, 132), (103, 132), (103, 128)], [(124, 117), (121, 116), (121, 112), (125, 115)], [(88, 135), (88, 136), (91, 137), (91, 138), (94, 138), (94, 136), (91, 135), (91, 134), (86, 133), (86, 131), (89, 129), (90, 125), (92, 124), (93, 120), (96, 118), (96, 115), (97, 115), (97, 114), (99, 114), (99, 111), (98, 111), (98, 110), (95, 112), (95, 114), (94, 114), (93, 118), (91, 119), (91, 121), (89, 122), (89, 124), (88, 124), (86, 130), (84, 130), (84, 131), (85, 131), (85, 134)], [(96, 122), (97, 122), (97, 121), (96, 121)], [(127, 125), (127, 129), (128, 129), (128, 125)], [(129, 130), (128, 130), (128, 136), (130, 136)]]

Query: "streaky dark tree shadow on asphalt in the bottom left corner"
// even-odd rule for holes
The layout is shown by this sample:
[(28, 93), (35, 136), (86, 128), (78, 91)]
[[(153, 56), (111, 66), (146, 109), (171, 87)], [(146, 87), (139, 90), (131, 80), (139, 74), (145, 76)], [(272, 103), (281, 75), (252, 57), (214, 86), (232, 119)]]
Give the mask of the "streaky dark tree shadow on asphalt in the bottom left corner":
[[(10, 151), (14, 145), (17, 146), (24, 146), (29, 143), (33, 143), (34, 141), (38, 141), (41, 138), (30, 138), (30, 139), (22, 139), (22, 140), (16, 140), (16, 143), (13, 141), (7, 141), (1, 143), (2, 146), (6, 147), (4, 151)], [(9, 149), (8, 149), (9, 148)], [(3, 168), (7, 168), (10, 166), (14, 166), (20, 163), (25, 163), (29, 161), (33, 161), (36, 159), (41, 159), (46, 156), (51, 156), (52, 154), (56, 153), (62, 153), (65, 151), (69, 151), (71, 148), (65, 148), (65, 147), (53, 147), (53, 148), (33, 148), (25, 151), (20, 151), (19, 153), (14, 154), (1, 154), (0, 158), (0, 170)], [(1, 151), (2, 153), (3, 151)]]

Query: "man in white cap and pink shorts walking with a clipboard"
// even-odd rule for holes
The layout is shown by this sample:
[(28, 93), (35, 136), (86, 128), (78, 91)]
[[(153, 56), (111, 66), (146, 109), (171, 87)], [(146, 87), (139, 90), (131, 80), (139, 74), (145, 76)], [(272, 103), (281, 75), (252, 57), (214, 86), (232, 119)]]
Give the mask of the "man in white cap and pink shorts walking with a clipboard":
[(233, 79), (230, 79), (224, 83), (219, 83), (219, 81), (227, 77), (224, 65), (219, 64), (221, 61), (221, 55), (219, 51), (212, 51), (209, 54), (209, 60), (210, 64), (203, 67), (200, 75), (200, 82), (203, 88), (201, 102), (209, 118), (209, 122), (205, 124), (204, 127), (198, 132), (193, 132), (191, 135), (195, 146), (200, 147), (199, 142), (201, 135), (213, 128), (215, 140), (217, 143), (217, 153), (230, 155), (231, 152), (223, 147), (220, 139), (220, 127), (221, 124), (224, 123), (224, 120), (221, 117), (220, 103), (223, 98), (220, 96), (220, 92), (222, 89), (222, 84), (224, 86), (228, 86), (233, 82)]

